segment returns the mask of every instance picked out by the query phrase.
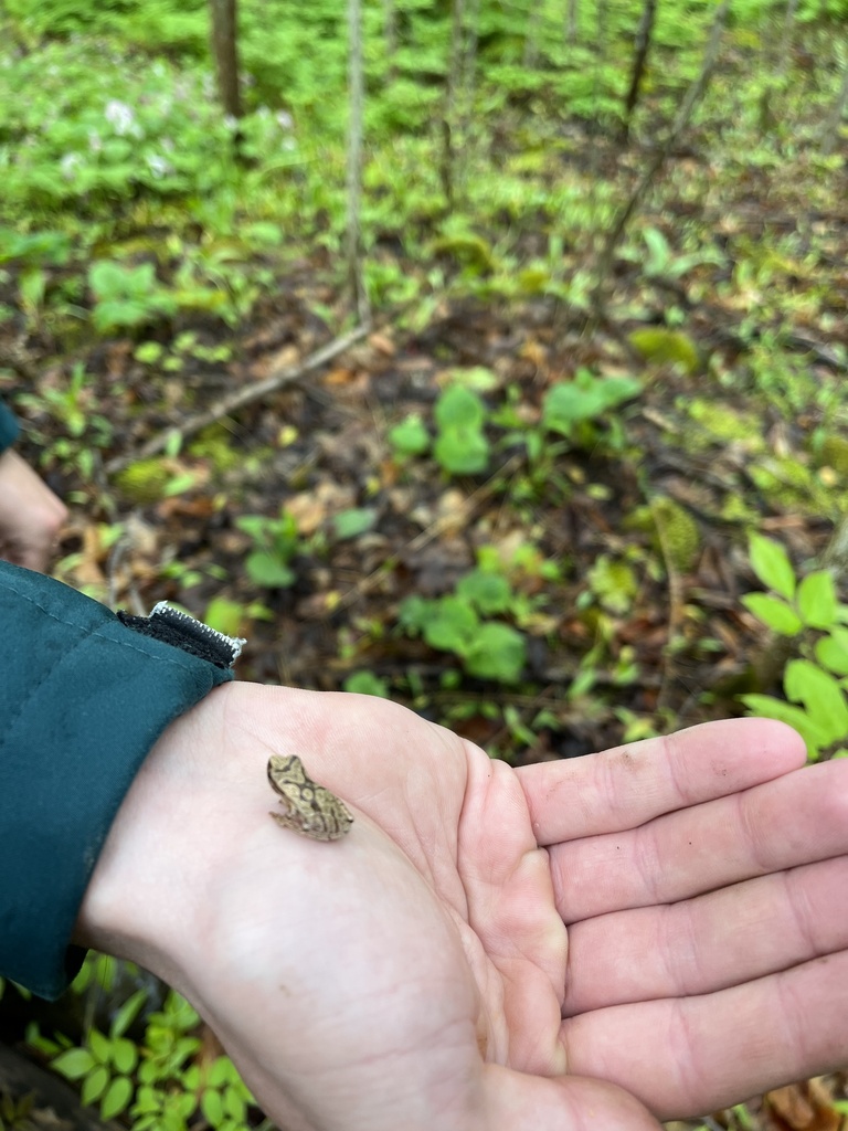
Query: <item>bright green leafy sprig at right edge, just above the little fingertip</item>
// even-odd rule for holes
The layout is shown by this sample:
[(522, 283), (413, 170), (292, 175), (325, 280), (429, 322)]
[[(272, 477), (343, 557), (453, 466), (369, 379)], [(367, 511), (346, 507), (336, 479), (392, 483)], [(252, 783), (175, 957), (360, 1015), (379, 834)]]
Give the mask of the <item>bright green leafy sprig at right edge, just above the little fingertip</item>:
[(797, 638), (799, 656), (784, 671), (788, 702), (772, 696), (746, 694), (753, 715), (794, 726), (811, 760), (825, 751), (848, 754), (848, 605), (836, 593), (827, 570), (798, 580), (786, 550), (770, 538), (751, 536), (751, 566), (770, 593), (743, 597), (745, 607), (778, 636)]

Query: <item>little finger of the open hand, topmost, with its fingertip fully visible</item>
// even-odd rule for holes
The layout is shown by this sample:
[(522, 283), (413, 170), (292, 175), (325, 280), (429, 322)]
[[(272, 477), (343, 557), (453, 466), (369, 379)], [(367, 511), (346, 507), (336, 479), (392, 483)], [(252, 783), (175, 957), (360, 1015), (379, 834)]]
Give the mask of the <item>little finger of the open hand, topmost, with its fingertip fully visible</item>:
[(632, 829), (804, 765), (804, 743), (764, 718), (725, 719), (588, 758), (517, 770), (540, 845)]

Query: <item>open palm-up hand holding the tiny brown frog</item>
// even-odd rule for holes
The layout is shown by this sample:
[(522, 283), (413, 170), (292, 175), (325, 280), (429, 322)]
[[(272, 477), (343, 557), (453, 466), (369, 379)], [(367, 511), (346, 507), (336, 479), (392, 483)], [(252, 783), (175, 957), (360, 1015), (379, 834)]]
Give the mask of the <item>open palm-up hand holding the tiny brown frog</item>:
[[(344, 840), (268, 818), (295, 752)], [(145, 762), (79, 939), (180, 988), (291, 1131), (656, 1131), (848, 1057), (848, 766), (803, 757), (745, 719), (516, 771), (230, 684)]]

